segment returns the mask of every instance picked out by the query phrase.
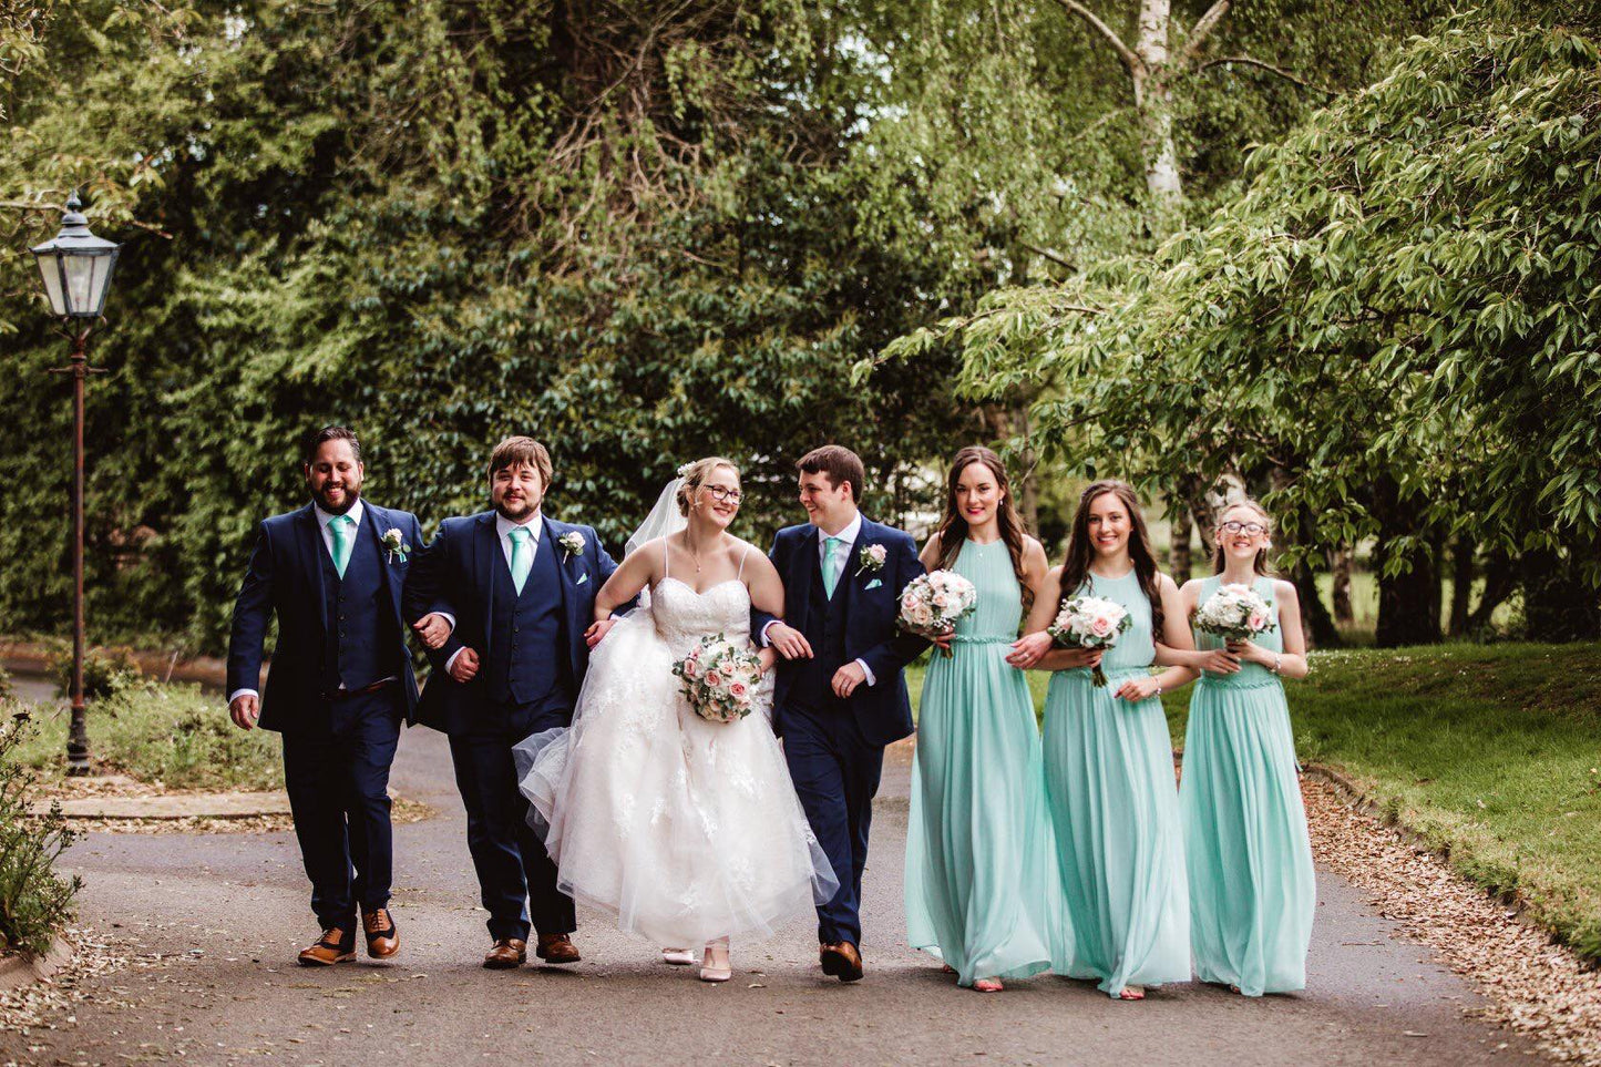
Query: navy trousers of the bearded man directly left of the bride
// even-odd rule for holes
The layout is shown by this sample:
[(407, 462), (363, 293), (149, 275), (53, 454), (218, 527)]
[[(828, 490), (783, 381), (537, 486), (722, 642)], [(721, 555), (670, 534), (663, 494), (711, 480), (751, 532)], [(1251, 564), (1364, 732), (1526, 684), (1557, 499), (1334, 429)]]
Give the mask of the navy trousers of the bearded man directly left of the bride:
[(556, 888), (556, 864), (528, 825), (528, 798), (517, 790), (511, 748), (572, 723), (570, 707), (487, 703), (469, 734), (450, 735), (456, 787), (467, 807), (467, 851), (479, 875), (479, 899), (490, 913), (490, 937), (528, 940), (530, 918), (541, 934), (578, 929), (573, 899)]

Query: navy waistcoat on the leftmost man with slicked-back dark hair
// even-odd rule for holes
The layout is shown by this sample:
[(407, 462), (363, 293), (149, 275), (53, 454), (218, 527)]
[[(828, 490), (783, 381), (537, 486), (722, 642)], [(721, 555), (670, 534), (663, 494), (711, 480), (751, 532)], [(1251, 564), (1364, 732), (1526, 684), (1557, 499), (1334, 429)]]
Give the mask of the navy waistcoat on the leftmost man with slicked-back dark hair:
[[(397, 678), (400, 633), (389, 590), (384, 586), (384, 556), (368, 529), (371, 517), (355, 527), (344, 577), (333, 569), (327, 548), (322, 561), (323, 657), (322, 687), (363, 689), (384, 678)], [(319, 535), (320, 537), (320, 535)]]

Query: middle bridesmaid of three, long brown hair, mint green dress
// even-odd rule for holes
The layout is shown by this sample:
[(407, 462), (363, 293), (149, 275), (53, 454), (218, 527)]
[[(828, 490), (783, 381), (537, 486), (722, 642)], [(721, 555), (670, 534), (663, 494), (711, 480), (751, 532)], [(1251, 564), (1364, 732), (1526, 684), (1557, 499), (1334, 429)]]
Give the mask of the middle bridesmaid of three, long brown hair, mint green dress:
[[(1052, 649), (1042, 631), (1074, 594), (1122, 604), (1132, 628), (1105, 654)], [(1045, 695), (1045, 796), (1073, 937), (1053, 945), (1052, 966), (1095, 979), (1109, 997), (1142, 1000), (1146, 985), (1190, 980), (1178, 790), (1159, 697), (1194, 671), (1150, 671), (1158, 633), (1177, 649), (1191, 641), (1178, 588), (1156, 570), (1129, 485), (1105, 481), (1084, 490), (1066, 562), (1047, 575), (1028, 630), (1020, 658), (1057, 671)], [(1105, 687), (1092, 681), (1095, 665), (1106, 673)]]

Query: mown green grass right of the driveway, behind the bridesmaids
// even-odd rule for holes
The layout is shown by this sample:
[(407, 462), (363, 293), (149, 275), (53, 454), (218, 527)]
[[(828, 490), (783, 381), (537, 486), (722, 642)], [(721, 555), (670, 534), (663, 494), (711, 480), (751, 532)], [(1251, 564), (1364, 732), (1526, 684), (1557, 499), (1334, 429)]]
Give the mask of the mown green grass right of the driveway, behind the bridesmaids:
[[(908, 682), (916, 700), (921, 665)], [(1036, 713), (1047, 682), (1029, 676)], [(1319, 652), (1289, 700), (1302, 761), (1601, 961), (1601, 646)], [(1190, 694), (1162, 702), (1182, 745)]]

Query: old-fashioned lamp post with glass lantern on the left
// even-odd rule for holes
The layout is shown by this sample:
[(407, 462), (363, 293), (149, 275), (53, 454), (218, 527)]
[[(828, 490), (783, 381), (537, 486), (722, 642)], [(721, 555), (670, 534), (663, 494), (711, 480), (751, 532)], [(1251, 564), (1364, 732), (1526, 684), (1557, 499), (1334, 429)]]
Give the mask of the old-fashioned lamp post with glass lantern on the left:
[(99, 368), (88, 365), (85, 348), (106, 306), (118, 248), (90, 232), (74, 192), (61, 216), (61, 232), (32, 250), (45, 277), (50, 309), (72, 340), (72, 362), (51, 370), (72, 375), (72, 729), (67, 734), (67, 774), (90, 772), (90, 735), (83, 723), (83, 383)]

